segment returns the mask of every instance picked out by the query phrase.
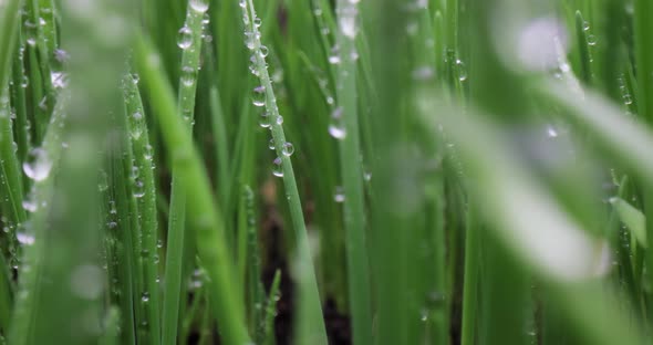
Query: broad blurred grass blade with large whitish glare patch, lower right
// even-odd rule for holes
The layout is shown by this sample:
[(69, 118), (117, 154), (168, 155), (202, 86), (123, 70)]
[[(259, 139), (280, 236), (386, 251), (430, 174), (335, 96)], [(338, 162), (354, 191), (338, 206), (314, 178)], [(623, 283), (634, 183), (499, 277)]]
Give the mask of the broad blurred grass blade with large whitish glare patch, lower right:
[[(592, 344), (639, 344), (621, 309), (592, 281), (607, 272), (609, 255), (578, 227), (510, 155), (501, 133), (479, 116), (439, 108), (438, 119), (452, 134), (466, 171), (480, 188), (471, 190), (491, 236), (521, 268), (530, 268), (551, 291), (563, 315)], [(435, 128), (435, 126), (434, 126)], [(610, 316), (608, 316), (610, 315)]]

